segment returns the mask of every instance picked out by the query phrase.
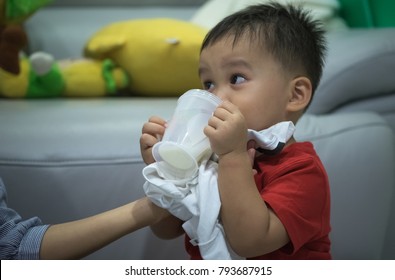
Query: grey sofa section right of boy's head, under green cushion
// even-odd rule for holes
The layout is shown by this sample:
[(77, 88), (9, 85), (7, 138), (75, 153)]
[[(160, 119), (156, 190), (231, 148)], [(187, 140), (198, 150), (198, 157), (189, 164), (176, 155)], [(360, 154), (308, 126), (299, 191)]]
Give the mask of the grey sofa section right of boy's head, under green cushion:
[(395, 95), (395, 28), (332, 32), (328, 43), (327, 63), (310, 113), (325, 114), (361, 100)]

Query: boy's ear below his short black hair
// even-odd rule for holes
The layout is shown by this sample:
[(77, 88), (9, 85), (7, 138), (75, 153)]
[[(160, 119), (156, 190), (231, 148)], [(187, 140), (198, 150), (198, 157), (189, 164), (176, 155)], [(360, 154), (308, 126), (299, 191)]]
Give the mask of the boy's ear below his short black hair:
[(301, 76), (293, 79), (287, 110), (289, 112), (303, 111), (311, 100), (312, 91), (313, 87), (307, 77)]

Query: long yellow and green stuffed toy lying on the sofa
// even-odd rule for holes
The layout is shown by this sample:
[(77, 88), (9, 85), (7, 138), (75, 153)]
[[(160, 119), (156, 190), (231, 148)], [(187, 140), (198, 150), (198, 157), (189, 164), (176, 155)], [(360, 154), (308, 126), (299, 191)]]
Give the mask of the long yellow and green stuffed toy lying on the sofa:
[(98, 97), (126, 88), (128, 76), (110, 59), (61, 60), (38, 52), (20, 59), (20, 73), (0, 69), (0, 95), (9, 98)]

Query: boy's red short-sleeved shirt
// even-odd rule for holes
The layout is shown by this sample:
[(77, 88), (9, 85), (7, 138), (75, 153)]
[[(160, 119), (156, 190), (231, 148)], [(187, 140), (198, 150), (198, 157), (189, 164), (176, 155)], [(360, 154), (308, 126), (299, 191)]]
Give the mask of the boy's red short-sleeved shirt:
[[(275, 156), (255, 160), (255, 183), (283, 223), (290, 242), (253, 259), (331, 259), (330, 191), (326, 171), (310, 142), (294, 143)], [(201, 259), (186, 237), (191, 259)]]

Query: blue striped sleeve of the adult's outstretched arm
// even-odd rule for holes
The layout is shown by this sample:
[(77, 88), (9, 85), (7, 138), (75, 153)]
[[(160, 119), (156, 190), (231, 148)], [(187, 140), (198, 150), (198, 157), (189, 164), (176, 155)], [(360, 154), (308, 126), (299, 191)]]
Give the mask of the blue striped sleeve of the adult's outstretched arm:
[(7, 207), (7, 193), (0, 178), (0, 259), (39, 259), (48, 227), (38, 217), (22, 220)]

